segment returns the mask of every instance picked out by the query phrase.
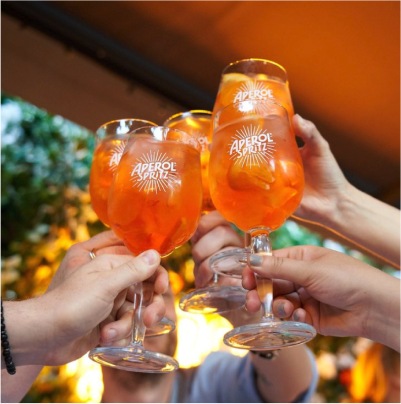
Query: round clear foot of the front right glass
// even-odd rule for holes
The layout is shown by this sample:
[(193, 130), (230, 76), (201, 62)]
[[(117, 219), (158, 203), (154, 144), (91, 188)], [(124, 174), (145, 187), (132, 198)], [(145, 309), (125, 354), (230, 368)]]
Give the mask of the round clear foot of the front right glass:
[(224, 335), (224, 343), (233, 348), (274, 350), (304, 344), (316, 336), (309, 324), (273, 320), (234, 328)]

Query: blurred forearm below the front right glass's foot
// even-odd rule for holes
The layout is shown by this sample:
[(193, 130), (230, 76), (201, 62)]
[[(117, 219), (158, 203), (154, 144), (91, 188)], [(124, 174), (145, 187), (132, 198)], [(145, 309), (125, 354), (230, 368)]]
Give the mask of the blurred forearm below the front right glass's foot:
[[(251, 353), (259, 393), (267, 402), (292, 402), (313, 380), (313, 365), (305, 346), (284, 348), (273, 359)], [(283, 381), (286, 381), (283, 388)]]

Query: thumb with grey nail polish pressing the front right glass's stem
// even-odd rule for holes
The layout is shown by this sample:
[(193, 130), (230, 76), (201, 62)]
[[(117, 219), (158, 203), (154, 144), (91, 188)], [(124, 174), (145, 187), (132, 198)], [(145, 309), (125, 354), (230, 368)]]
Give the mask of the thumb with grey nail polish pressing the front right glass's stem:
[(252, 254), (249, 264), (252, 271), (264, 278), (282, 279), (302, 286), (309, 284), (312, 275), (311, 262), (293, 258)]

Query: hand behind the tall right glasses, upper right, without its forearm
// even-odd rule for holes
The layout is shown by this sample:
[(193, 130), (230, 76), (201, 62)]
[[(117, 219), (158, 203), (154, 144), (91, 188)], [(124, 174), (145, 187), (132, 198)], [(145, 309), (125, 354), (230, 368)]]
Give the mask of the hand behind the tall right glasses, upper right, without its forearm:
[(316, 126), (299, 115), (293, 118), (296, 136), (304, 141), (300, 154), (305, 173), (304, 195), (295, 217), (327, 225), (351, 186), (341, 171), (328, 142)]

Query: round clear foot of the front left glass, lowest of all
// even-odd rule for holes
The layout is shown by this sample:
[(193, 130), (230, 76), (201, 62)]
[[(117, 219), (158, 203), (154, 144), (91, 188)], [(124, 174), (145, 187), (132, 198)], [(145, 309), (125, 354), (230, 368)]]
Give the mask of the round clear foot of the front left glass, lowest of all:
[(89, 358), (101, 365), (129, 372), (166, 373), (179, 367), (178, 362), (168, 355), (135, 347), (98, 347), (89, 352)]

